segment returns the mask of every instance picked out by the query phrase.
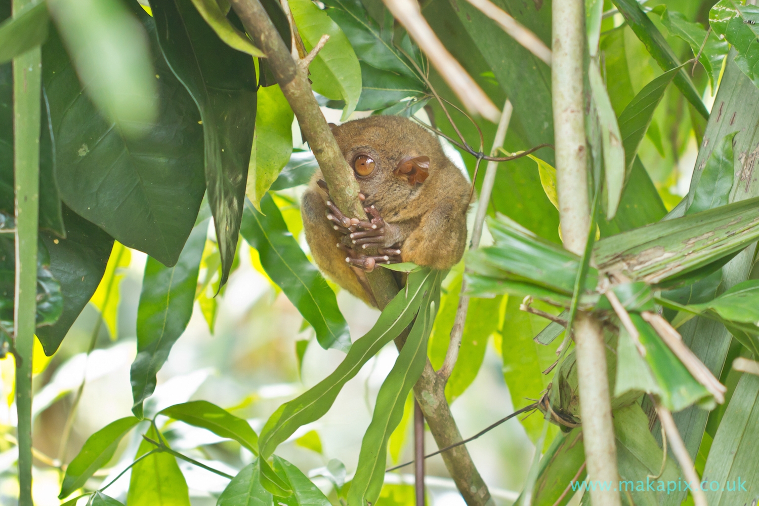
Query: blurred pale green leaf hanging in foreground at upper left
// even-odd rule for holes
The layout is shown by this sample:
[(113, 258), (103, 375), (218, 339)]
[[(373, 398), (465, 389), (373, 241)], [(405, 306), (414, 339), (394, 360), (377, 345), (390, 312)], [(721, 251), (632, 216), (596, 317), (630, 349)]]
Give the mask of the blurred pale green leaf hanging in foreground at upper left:
[[(150, 134), (159, 115), (158, 86), (148, 38), (135, 16), (137, 2), (129, 6), (118, 0), (46, 3), (87, 94), (117, 125), (115, 134), (135, 139)], [(77, 116), (78, 127), (83, 118), (87, 116)], [(108, 144), (101, 145), (103, 149)]]

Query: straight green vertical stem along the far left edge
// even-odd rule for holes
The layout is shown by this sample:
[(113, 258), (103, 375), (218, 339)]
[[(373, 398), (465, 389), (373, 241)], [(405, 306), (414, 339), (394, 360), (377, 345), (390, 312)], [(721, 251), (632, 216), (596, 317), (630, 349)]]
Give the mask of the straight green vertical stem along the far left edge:
[[(14, 0), (17, 14), (27, 0)], [(14, 330), (18, 482), (20, 506), (32, 503), (32, 355), (36, 328), (37, 223), (39, 220), (39, 47), (13, 59), (16, 286)]]

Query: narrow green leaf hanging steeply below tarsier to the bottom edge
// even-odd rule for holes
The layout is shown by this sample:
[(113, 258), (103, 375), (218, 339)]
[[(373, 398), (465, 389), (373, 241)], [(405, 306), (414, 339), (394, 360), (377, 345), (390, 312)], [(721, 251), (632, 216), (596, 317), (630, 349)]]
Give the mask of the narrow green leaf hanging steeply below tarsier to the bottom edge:
[(348, 504), (375, 504), (385, 480), (387, 441), (403, 417), (403, 406), (427, 360), (427, 337), (440, 304), (441, 272), (434, 274), (433, 286), (419, 308), (414, 327), (408, 334), (398, 359), (377, 394), (374, 414), (358, 455), (356, 474), (348, 491)]

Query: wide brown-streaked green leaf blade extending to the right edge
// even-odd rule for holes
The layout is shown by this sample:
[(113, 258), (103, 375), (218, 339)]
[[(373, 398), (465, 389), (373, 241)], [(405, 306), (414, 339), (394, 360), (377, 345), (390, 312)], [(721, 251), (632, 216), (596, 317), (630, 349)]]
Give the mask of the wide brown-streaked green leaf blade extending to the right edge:
[[(619, 271), (646, 283), (678, 283), (685, 275), (723, 261), (759, 237), (759, 198), (653, 223), (601, 239), (599, 270)], [(718, 268), (720, 266), (716, 266)]]

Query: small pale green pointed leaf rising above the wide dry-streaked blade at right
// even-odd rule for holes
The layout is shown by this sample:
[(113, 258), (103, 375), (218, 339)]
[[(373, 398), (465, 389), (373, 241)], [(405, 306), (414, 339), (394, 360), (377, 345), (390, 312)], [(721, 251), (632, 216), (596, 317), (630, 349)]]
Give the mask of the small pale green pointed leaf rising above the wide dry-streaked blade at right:
[(727, 134), (710, 153), (695, 190), (691, 190), (693, 200), (685, 210), (686, 215), (728, 203), (733, 179), (732, 140), (737, 133)]

